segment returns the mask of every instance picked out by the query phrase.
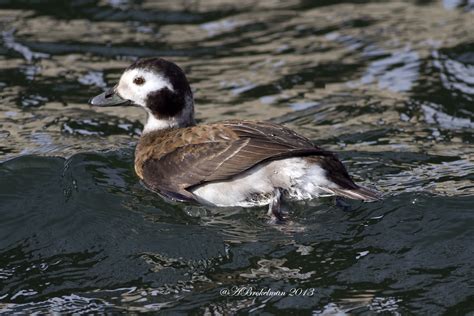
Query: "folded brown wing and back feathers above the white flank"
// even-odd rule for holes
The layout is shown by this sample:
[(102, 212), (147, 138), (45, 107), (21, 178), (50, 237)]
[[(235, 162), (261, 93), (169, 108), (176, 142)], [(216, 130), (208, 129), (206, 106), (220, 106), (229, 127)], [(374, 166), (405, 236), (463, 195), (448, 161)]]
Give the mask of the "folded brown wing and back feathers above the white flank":
[(308, 155), (333, 157), (280, 125), (225, 121), (210, 126), (213, 128), (194, 126), (155, 135), (157, 142), (156, 139), (166, 139), (168, 147), (164, 150), (157, 143), (155, 148), (161, 150), (143, 161), (144, 182), (154, 190), (175, 192), (183, 199), (192, 199), (188, 188), (228, 180), (263, 161)]

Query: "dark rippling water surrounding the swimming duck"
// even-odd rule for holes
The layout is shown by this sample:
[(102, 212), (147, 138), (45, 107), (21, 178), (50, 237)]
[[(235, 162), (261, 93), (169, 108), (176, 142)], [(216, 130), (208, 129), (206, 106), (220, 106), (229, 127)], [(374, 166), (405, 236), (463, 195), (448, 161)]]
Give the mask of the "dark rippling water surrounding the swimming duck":
[[(473, 8), (0, 0), (0, 313), (473, 315)], [(271, 225), (148, 192), (144, 114), (86, 105), (143, 56), (185, 69), (200, 121), (285, 123), (386, 199)]]

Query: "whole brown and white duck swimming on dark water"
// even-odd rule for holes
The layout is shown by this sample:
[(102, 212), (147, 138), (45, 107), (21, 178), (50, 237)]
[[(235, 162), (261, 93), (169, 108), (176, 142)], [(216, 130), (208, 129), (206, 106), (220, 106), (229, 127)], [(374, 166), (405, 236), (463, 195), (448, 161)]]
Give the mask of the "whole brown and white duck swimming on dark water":
[(284, 221), (282, 201), (381, 199), (356, 184), (333, 152), (283, 125), (239, 119), (196, 124), (185, 73), (163, 58), (138, 59), (89, 104), (145, 110), (135, 172), (148, 189), (173, 201), (268, 206), (271, 218)]

